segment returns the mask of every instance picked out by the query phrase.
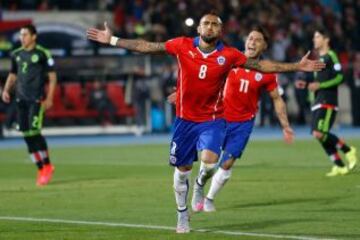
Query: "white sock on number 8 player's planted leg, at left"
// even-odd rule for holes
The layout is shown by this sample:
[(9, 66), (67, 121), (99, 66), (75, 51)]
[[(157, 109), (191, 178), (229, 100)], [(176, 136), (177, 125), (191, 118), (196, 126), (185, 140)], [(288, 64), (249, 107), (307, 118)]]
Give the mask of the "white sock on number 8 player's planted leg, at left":
[(186, 209), (186, 198), (189, 191), (189, 175), (190, 171), (181, 172), (175, 168), (174, 171), (174, 190), (175, 200), (179, 211)]

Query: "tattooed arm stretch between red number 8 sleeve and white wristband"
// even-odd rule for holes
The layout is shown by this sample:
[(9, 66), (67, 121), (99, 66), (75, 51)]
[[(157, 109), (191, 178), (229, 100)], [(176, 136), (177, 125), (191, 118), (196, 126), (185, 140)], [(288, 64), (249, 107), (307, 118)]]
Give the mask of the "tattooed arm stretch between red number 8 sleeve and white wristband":
[(165, 52), (165, 43), (163, 42), (148, 42), (145, 40), (128, 40), (120, 38), (117, 46), (131, 51), (141, 53), (163, 53)]

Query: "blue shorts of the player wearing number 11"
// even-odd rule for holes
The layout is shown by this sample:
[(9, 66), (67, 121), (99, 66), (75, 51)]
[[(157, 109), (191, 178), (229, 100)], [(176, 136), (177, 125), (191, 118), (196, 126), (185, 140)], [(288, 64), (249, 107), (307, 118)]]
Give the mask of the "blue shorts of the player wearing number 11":
[(223, 153), (220, 164), (230, 158), (240, 158), (246, 144), (249, 141), (250, 134), (254, 127), (255, 119), (245, 122), (227, 122), (226, 136), (224, 140)]

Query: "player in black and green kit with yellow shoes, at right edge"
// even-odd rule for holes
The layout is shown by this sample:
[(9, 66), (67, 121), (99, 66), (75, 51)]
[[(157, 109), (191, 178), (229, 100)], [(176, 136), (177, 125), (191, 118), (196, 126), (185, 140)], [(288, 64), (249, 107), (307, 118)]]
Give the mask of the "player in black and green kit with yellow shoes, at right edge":
[[(338, 86), (343, 81), (341, 64), (336, 53), (330, 48), (330, 34), (325, 30), (317, 30), (313, 37), (314, 48), (320, 61), (326, 64), (322, 71), (314, 73), (314, 82), (297, 81), (299, 88), (307, 88), (315, 97), (312, 105), (312, 135), (321, 143), (334, 166), (326, 175), (328, 177), (345, 175), (357, 164), (355, 147), (348, 146), (344, 140), (331, 133), (331, 127), (338, 111)], [(344, 163), (338, 150), (345, 154)]]

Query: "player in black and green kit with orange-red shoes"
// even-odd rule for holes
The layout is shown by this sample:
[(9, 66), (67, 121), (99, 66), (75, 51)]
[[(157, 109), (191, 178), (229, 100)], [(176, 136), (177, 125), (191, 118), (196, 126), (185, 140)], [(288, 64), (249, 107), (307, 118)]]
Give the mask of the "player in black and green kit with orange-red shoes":
[[(10, 92), (15, 87), (18, 129), (23, 133), (30, 158), (38, 167), (36, 183), (42, 186), (49, 183), (54, 172), (41, 128), (45, 110), (53, 105), (57, 78), (54, 59), (48, 50), (36, 44), (36, 38), (33, 25), (21, 28), (21, 47), (11, 54), (11, 69), (2, 99), (9, 103)], [(45, 95), (47, 79), (49, 90)]]

